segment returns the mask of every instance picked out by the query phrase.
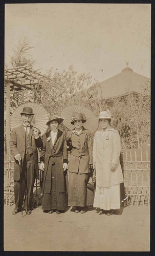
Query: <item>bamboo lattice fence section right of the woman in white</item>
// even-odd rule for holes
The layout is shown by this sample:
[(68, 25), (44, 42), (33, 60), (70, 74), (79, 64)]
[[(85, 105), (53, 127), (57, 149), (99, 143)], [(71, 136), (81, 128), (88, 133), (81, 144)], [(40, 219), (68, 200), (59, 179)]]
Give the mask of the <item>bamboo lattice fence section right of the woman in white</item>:
[(123, 153), (124, 185), (128, 204), (150, 205), (150, 150)]

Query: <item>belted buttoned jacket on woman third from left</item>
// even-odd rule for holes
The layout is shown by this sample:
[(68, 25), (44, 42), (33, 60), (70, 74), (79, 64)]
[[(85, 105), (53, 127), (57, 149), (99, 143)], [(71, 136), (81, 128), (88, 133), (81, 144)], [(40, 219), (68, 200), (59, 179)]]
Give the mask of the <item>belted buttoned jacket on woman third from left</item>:
[(71, 141), (71, 146), (68, 148), (71, 151), (69, 161), (69, 172), (86, 174), (90, 173), (89, 164), (92, 164), (93, 142), (91, 132), (87, 129), (82, 129), (80, 134), (75, 130), (69, 131), (67, 140)]

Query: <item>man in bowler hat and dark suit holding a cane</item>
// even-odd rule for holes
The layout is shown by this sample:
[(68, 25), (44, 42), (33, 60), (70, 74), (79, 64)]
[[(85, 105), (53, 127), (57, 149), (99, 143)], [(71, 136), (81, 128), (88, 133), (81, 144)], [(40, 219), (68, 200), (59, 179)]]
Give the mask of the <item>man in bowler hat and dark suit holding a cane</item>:
[(33, 110), (25, 106), (21, 114), (23, 124), (11, 131), (10, 149), (14, 157), (14, 197), (15, 209), (12, 214), (21, 211), (24, 195), (24, 209), (28, 215), (32, 211), (33, 187), (35, 178), (39, 178), (37, 147), (42, 146), (39, 129), (32, 127)]

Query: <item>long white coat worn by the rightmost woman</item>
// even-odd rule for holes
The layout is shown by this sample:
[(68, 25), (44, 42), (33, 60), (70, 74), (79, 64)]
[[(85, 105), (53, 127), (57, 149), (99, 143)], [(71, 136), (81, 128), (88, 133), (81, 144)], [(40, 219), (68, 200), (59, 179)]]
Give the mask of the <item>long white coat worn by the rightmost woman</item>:
[[(97, 131), (94, 137), (93, 162), (96, 163), (96, 185), (109, 187), (123, 182), (120, 165), (121, 143), (118, 131), (112, 127)], [(111, 164), (116, 164), (112, 171)]]

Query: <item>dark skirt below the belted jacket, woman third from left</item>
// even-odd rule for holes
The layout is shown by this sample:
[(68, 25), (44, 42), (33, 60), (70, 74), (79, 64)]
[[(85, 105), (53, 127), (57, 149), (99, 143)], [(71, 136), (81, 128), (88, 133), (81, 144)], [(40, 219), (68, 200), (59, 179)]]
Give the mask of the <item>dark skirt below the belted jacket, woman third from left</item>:
[(90, 179), (90, 173), (79, 174), (69, 173), (69, 206), (87, 205), (87, 183)]

